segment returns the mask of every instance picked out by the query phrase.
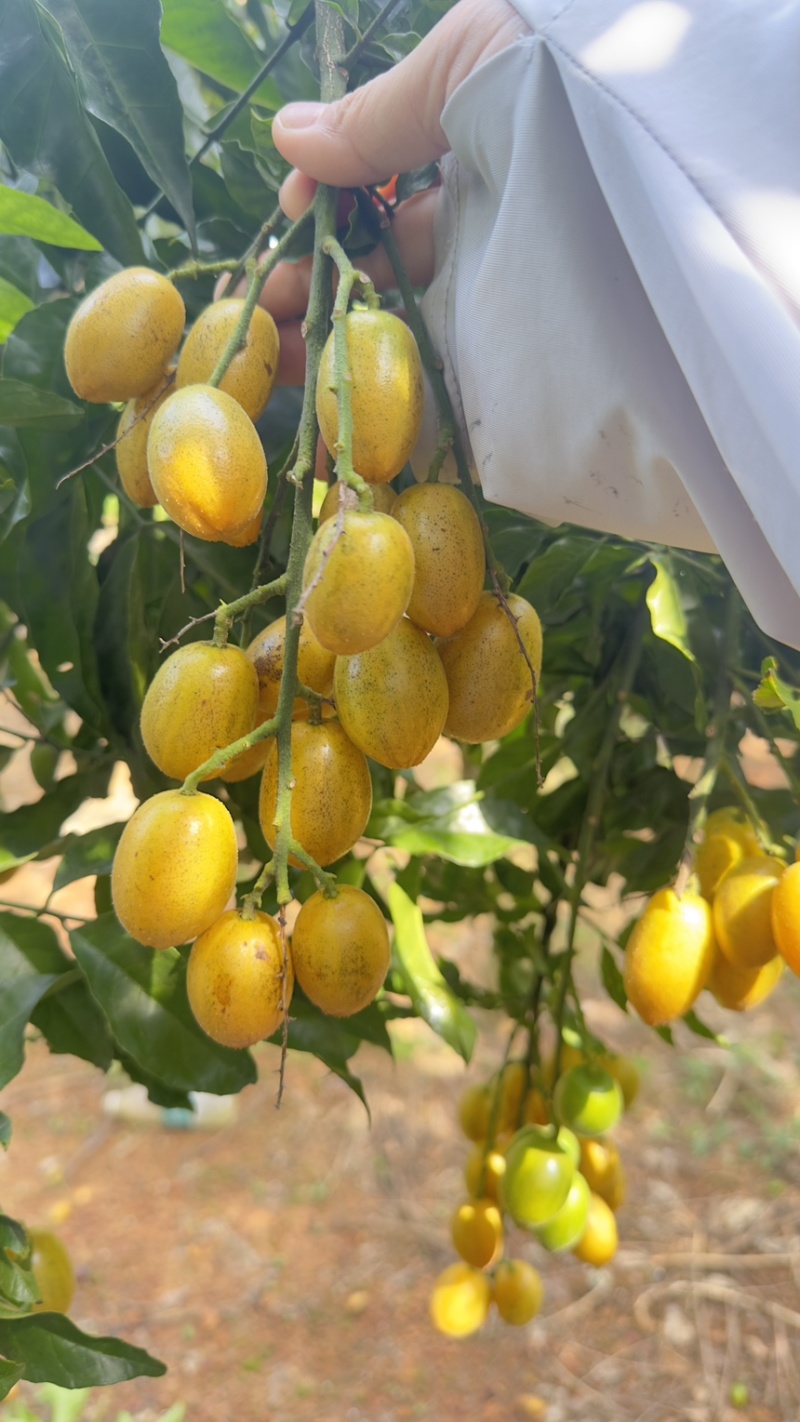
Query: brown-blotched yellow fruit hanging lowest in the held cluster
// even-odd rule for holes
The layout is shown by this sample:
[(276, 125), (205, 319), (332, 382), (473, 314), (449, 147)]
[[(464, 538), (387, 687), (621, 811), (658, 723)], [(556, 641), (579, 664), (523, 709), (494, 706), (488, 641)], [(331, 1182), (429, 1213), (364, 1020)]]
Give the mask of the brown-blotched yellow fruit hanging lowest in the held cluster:
[(223, 913), (196, 940), (186, 968), (189, 1005), (222, 1047), (253, 1047), (283, 1022), (294, 990), (291, 953), (284, 963), (280, 929), (266, 913)]

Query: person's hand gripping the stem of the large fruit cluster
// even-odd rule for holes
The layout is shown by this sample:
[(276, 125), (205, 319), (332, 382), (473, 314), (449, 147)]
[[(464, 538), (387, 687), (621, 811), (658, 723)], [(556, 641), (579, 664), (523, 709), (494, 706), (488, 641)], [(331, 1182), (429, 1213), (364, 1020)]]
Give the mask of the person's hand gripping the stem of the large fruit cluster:
[[(294, 164), (280, 203), (293, 220), (314, 198), (317, 182), (357, 188), (411, 172), (448, 151), (445, 104), (469, 74), (529, 33), (509, 0), (460, 0), (395, 68), (334, 104), (287, 104), (276, 114), (273, 138)], [(439, 192), (431, 188), (395, 210), (394, 235), (415, 286), (433, 276), (433, 218)], [(377, 247), (358, 266), (378, 290), (395, 284)], [(301, 384), (306, 344), (301, 320), (308, 304), (311, 259), (284, 262), (267, 279), (261, 304), (280, 328), (279, 381)]]

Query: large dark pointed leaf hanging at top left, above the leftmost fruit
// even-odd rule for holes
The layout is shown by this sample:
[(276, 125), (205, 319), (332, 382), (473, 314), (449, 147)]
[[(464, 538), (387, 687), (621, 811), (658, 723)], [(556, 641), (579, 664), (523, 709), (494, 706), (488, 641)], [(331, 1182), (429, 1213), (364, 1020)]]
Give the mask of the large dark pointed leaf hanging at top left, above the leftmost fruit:
[(57, 20), (84, 108), (126, 138), (193, 239), (183, 109), (159, 44), (159, 0), (40, 0)]

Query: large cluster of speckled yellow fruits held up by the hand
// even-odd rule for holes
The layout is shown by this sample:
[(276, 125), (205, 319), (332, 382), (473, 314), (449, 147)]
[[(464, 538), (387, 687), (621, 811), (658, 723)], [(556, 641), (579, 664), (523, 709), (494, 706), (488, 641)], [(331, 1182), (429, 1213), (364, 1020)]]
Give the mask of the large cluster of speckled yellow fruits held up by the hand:
[[(129, 496), (144, 506), (158, 501), (196, 538), (242, 546), (261, 523), (267, 466), (253, 421), (274, 381), (277, 331), (260, 309), (242, 331), (243, 303), (219, 301), (196, 320), (172, 378), (183, 321), (166, 277), (122, 272), (75, 313), (67, 371), (87, 400), (129, 401), (118, 439)], [(230, 360), (234, 333), (243, 346)], [(324, 875), (367, 828), (367, 758), (406, 769), (442, 732), (467, 742), (506, 735), (530, 710), (541, 670), (533, 607), (485, 592), (483, 533), (466, 495), (439, 483), (399, 495), (389, 486), (422, 421), (413, 336), (389, 313), (355, 309), (345, 344), (358, 472), (330, 491), (303, 593), (287, 609), (288, 626), (300, 624), (297, 695), (287, 702), (288, 863), (310, 867), (323, 887), (303, 904), (291, 947), (253, 894), (229, 910), (233, 819), (223, 799), (198, 792), (216, 775), (234, 782), (260, 774), (260, 823), (277, 852), (287, 617), (247, 648), (229, 646), (230, 623), (217, 619), (213, 641), (182, 646), (162, 664), (144, 698), (142, 739), (155, 765), (186, 784), (139, 806), (114, 862), (114, 907), (139, 943), (195, 940), (189, 1001), (203, 1030), (227, 1047), (270, 1037), (286, 1021), (296, 980), (335, 1017), (372, 1001), (389, 967), (384, 914), (364, 890), (337, 889)], [(317, 417), (328, 449), (341, 454), (335, 387), (331, 333)], [(234, 744), (236, 752), (220, 757)]]

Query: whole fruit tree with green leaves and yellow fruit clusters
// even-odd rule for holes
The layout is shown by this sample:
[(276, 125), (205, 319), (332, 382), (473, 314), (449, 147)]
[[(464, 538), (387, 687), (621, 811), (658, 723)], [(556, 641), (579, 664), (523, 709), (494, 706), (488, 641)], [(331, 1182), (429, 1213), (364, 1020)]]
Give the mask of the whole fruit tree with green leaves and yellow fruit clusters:
[[(520, 1244), (617, 1246), (637, 1078), (587, 1025), (578, 943), (668, 1041), (713, 1035), (703, 993), (747, 1011), (800, 973), (800, 658), (718, 557), (485, 503), (392, 236), (435, 168), (283, 216), (277, 108), (391, 67), (449, 3), (392, 9), (0, 6), (0, 755), (40, 791), (0, 829), (0, 1085), (36, 1032), (189, 1106), (269, 1039), (284, 1109), (294, 1052), (367, 1102), (354, 1058), (392, 1020), (469, 1061), (470, 1008), (494, 1011), (497, 1069), (453, 1102), (460, 1258), (431, 1281), (463, 1337), (537, 1313)], [(281, 260), (310, 269), (303, 391), (259, 304)], [(460, 772), (423, 788), (442, 735)], [(780, 788), (747, 781), (752, 735)], [(121, 762), (132, 818), (65, 832)], [(91, 877), (91, 919), (16, 900), (37, 857), (54, 890)], [(622, 939), (588, 886), (629, 904)], [(477, 914), (490, 991), (426, 937)], [(70, 1321), (53, 1236), (0, 1230), (0, 1396), (163, 1371)]]

